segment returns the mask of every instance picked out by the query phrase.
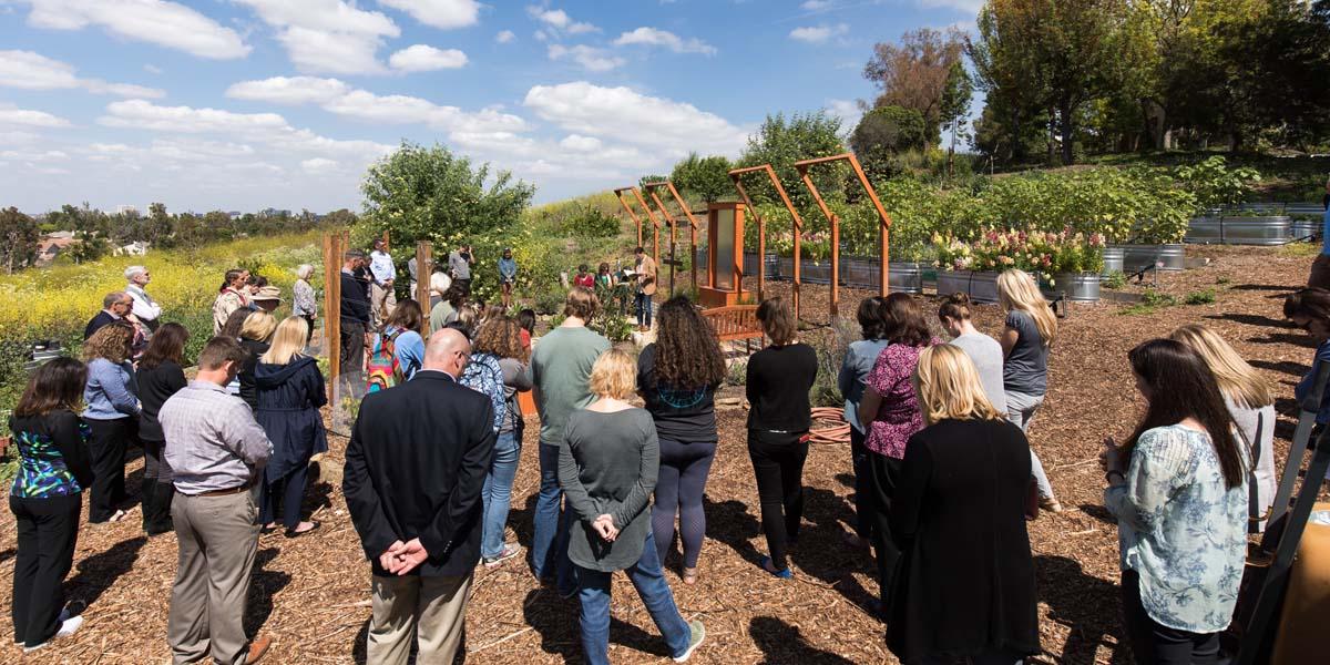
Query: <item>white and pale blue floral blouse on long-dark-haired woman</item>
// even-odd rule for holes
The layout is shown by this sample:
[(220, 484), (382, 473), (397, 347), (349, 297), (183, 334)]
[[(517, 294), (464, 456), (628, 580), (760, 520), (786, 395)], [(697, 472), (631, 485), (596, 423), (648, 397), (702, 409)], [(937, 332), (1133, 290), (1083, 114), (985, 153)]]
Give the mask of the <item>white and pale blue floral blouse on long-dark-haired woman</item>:
[(1127, 484), (1105, 489), (1104, 505), (1117, 516), (1121, 565), (1141, 576), (1150, 618), (1202, 634), (1228, 628), (1246, 556), (1248, 488), (1245, 473), (1225, 487), (1209, 435), (1146, 430)]

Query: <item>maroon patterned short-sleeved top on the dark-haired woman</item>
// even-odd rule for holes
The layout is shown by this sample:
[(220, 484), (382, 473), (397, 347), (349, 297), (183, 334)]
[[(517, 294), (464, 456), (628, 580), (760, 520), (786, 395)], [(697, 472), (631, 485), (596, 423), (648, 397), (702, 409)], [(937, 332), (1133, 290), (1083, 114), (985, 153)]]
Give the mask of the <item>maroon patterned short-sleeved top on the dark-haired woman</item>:
[[(928, 346), (940, 344), (936, 338)], [(872, 371), (864, 379), (864, 386), (882, 396), (878, 415), (868, 430), (864, 444), (870, 451), (888, 458), (904, 459), (906, 442), (923, 430), (923, 414), (919, 399), (914, 394), (915, 367), (923, 347), (891, 344), (878, 354)]]

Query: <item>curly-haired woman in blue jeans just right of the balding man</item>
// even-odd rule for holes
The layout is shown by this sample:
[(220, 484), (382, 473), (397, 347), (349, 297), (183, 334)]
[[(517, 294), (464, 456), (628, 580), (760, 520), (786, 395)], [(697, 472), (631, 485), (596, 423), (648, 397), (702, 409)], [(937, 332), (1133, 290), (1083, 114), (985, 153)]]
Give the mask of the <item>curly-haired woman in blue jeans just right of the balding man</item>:
[(504, 543), (504, 529), (508, 523), (508, 508), (512, 505), (512, 480), (517, 476), (517, 460), (521, 458), (523, 420), (517, 406), (517, 392), (531, 390), (531, 375), (527, 360), (531, 351), (521, 346), (521, 329), (516, 321), (495, 318), (485, 321), (472, 344), (473, 358), (481, 366), (489, 360), (499, 363), (503, 375), (503, 414), (499, 423), (499, 438), (495, 442), (495, 455), (480, 489), (484, 504), (484, 520), (480, 536), (480, 557), (487, 567), (499, 565), (519, 553), (521, 548)]

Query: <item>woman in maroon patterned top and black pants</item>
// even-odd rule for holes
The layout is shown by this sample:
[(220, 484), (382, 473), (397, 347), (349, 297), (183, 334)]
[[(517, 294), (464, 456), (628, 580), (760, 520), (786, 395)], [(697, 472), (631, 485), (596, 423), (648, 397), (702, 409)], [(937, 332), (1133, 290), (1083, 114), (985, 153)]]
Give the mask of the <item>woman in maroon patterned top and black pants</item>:
[(888, 519), (891, 500), (900, 481), (900, 463), (906, 442), (923, 430), (923, 412), (911, 378), (919, 366), (919, 354), (940, 340), (928, 332), (923, 309), (912, 297), (896, 293), (882, 305), (883, 335), (887, 347), (878, 354), (872, 371), (864, 379), (859, 402), (859, 422), (868, 424), (864, 446), (868, 448), (868, 496), (862, 509), (871, 515), (872, 549), (878, 557), (878, 584), (883, 609), (888, 609), (891, 585), (900, 551), (891, 536)]

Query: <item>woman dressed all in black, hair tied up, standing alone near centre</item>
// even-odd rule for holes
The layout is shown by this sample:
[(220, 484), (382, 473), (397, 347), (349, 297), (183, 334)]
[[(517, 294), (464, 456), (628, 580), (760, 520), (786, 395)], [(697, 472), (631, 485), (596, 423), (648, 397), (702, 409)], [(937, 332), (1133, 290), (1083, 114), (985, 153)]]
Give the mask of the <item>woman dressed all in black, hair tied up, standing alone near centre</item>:
[(749, 359), (746, 382), (749, 458), (771, 553), (762, 557), (762, 568), (777, 577), (791, 577), (785, 547), (786, 540), (798, 539), (803, 517), (803, 460), (813, 426), (809, 388), (818, 376), (818, 354), (798, 343), (794, 313), (785, 299), (762, 301), (757, 318), (771, 339), (771, 346)]

